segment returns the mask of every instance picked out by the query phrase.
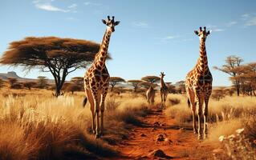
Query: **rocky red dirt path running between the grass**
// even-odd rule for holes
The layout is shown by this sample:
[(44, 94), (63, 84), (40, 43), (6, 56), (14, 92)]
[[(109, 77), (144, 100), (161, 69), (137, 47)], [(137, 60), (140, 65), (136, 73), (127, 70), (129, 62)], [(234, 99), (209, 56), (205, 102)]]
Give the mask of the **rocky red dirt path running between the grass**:
[[(212, 155), (213, 147), (199, 142), (192, 128), (173, 126), (175, 120), (167, 118), (161, 110), (152, 108), (141, 121), (143, 126), (134, 126), (128, 139), (115, 146), (121, 156), (128, 159), (153, 159), (156, 158), (152, 154), (154, 150), (164, 151), (167, 157), (161, 159), (206, 159)], [(156, 140), (159, 134), (164, 135), (165, 141)], [(205, 156), (198, 156), (200, 152)]]

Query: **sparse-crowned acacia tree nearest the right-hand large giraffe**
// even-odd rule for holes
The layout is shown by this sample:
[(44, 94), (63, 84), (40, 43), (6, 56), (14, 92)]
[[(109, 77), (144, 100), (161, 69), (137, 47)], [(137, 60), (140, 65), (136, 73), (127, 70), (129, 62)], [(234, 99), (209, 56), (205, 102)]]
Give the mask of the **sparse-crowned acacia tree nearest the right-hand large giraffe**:
[(230, 74), (230, 76), (232, 77), (231, 79), (234, 79), (234, 81), (232, 82), (234, 83), (234, 86), (237, 90), (237, 95), (239, 96), (241, 82), (239, 78), (237, 78), (239, 75), (237, 67), (241, 66), (241, 62), (243, 62), (243, 59), (237, 56), (231, 55), (226, 58), (225, 62), (226, 64), (222, 65), (221, 67), (213, 66), (213, 68), (216, 70), (221, 70), (226, 74)]

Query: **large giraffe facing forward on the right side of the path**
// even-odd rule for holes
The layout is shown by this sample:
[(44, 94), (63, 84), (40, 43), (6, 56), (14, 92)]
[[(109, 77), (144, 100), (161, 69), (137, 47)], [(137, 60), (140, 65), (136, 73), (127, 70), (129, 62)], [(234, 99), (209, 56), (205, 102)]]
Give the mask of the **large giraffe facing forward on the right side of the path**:
[[(188, 105), (191, 106), (193, 115), (193, 130), (198, 134), (198, 139), (207, 138), (208, 134), (208, 102), (212, 93), (213, 77), (209, 71), (207, 54), (205, 49), (205, 40), (210, 34), (209, 31), (200, 29), (194, 31), (200, 40), (200, 56), (197, 65), (191, 70), (185, 79), (185, 88), (188, 95)], [(203, 104), (205, 106), (203, 108)], [(195, 113), (197, 106), (198, 130), (196, 128)], [(203, 123), (203, 128), (201, 123)]]

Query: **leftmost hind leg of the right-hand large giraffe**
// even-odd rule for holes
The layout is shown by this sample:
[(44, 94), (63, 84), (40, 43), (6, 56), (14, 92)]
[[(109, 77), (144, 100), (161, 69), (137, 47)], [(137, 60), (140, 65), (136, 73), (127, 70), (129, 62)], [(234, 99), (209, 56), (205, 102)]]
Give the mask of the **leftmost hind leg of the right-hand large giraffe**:
[(189, 102), (190, 102), (190, 105), (191, 105), (189, 107), (191, 108), (191, 111), (192, 111), (193, 132), (195, 134), (197, 134), (197, 124), (196, 124), (196, 120), (195, 120), (195, 116), (196, 116), (195, 93), (193, 92), (193, 90), (189, 90), (189, 89), (187, 89), (187, 93), (188, 93), (188, 98), (189, 98)]

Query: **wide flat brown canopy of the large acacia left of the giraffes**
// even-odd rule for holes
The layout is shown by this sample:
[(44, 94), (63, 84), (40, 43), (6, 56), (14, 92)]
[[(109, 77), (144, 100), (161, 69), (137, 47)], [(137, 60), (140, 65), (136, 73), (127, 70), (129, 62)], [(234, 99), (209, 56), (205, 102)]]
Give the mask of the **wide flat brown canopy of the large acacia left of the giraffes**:
[[(67, 59), (71, 66), (85, 67), (100, 50), (100, 44), (73, 38), (26, 37), (10, 42), (1, 63), (6, 65), (46, 66), (52, 60)], [(110, 56), (108, 56), (108, 59)], [(72, 64), (71, 64), (72, 62)], [(52, 62), (54, 64), (54, 62)]]

